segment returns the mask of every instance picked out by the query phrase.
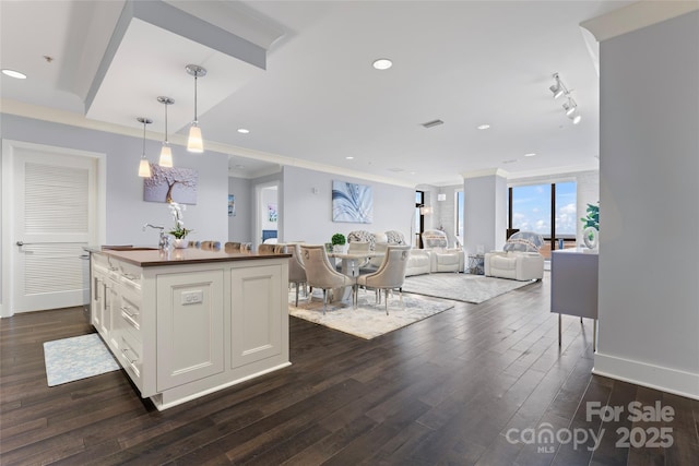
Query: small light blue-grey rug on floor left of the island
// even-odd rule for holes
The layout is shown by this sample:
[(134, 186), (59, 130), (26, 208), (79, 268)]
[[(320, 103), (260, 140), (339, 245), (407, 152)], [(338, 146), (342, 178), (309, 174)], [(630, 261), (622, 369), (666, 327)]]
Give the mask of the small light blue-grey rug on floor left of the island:
[(48, 386), (87, 379), (119, 369), (96, 333), (44, 343)]

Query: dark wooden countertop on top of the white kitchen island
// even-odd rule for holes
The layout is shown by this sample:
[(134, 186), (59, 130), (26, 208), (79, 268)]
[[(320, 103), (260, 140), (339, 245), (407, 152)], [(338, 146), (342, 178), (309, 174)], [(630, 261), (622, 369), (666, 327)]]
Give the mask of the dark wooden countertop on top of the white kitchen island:
[(119, 259), (140, 267), (196, 264), (204, 262), (250, 261), (257, 259), (279, 259), (292, 256), (292, 254), (258, 254), (253, 252), (228, 253), (224, 251), (208, 251), (197, 248), (171, 249), (169, 252), (145, 249), (120, 251), (111, 249), (91, 249), (91, 251), (110, 255), (115, 259)]

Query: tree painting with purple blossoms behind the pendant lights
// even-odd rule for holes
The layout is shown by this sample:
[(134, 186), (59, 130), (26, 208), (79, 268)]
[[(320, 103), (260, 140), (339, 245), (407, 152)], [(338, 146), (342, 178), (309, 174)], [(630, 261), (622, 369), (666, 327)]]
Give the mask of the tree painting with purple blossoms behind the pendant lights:
[(143, 200), (197, 204), (199, 171), (192, 168), (164, 168), (151, 164), (151, 178), (143, 179)]

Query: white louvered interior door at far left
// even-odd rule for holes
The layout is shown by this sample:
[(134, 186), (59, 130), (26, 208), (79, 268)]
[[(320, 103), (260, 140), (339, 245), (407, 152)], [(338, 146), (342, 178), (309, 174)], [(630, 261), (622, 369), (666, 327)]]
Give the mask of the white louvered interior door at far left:
[(12, 167), (11, 312), (82, 306), (80, 256), (97, 239), (97, 159), (19, 144)]

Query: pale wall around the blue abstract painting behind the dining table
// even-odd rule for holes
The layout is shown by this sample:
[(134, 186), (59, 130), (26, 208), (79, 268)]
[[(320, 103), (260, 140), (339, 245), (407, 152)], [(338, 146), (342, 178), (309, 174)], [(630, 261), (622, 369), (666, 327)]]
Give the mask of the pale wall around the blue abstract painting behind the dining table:
[[(309, 243), (330, 242), (335, 232), (353, 230), (371, 232), (399, 230), (410, 238), (411, 218), (415, 208), (415, 190), (392, 184), (342, 177), (299, 167), (284, 167), (281, 190), (283, 204), (283, 240)], [(371, 224), (332, 222), (332, 181), (369, 184), (374, 191), (374, 222)], [(317, 191), (316, 191), (317, 190)]]

